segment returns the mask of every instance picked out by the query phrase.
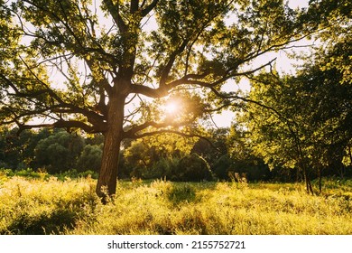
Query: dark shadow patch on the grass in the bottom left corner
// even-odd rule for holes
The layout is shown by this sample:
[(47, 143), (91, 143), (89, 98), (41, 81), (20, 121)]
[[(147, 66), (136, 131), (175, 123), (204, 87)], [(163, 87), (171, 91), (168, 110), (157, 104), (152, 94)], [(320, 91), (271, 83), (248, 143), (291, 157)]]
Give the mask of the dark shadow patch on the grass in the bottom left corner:
[(7, 228), (7, 233), (15, 235), (58, 234), (73, 229), (78, 219), (74, 211), (58, 210), (31, 217), (22, 215)]

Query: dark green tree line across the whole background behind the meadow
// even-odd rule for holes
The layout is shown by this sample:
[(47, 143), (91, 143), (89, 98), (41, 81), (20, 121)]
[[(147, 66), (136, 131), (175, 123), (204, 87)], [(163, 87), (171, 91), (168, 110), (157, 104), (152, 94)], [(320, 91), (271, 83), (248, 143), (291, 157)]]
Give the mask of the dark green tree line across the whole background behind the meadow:
[[(0, 168), (14, 172), (29, 168), (50, 174), (75, 171), (97, 175), (103, 136), (81, 136), (62, 129), (46, 128), (40, 131), (25, 130), (17, 136), (17, 131), (16, 128), (3, 128), (1, 131)], [(179, 182), (238, 181), (242, 177), (250, 182), (303, 180), (304, 174), (298, 166), (277, 163), (272, 156), (259, 154), (259, 145), (248, 145), (248, 134), (248, 131), (244, 132), (234, 125), (208, 130), (207, 139), (168, 134), (127, 140), (120, 153), (118, 178), (162, 178)], [(283, 159), (295, 159), (288, 153), (278, 152), (276, 155), (279, 154)], [(335, 162), (337, 166), (329, 164), (324, 171), (310, 167), (310, 178), (318, 179), (320, 175), (352, 176), (350, 162), (345, 163), (348, 155), (350, 153), (345, 153), (339, 160), (331, 155), (331, 161), (338, 160), (339, 163)]]

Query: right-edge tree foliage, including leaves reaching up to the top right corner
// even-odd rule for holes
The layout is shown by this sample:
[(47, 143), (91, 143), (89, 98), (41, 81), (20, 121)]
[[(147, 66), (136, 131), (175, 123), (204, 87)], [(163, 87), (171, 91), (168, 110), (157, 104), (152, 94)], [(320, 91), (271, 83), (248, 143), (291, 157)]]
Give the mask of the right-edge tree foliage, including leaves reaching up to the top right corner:
[(272, 168), (301, 170), (310, 192), (310, 177), (343, 177), (350, 165), (343, 163), (352, 139), (351, 5), (332, 2), (321, 1), (320, 45), (295, 75), (271, 68), (253, 77), (243, 119), (255, 154)]

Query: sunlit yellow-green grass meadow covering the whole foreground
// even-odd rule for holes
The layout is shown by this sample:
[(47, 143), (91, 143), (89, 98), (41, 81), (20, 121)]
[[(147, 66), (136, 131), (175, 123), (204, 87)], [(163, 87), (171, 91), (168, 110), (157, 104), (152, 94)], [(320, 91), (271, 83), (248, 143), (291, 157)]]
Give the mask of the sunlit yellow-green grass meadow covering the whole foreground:
[(103, 205), (89, 177), (0, 173), (0, 234), (352, 234), (352, 182), (325, 185), (119, 182)]

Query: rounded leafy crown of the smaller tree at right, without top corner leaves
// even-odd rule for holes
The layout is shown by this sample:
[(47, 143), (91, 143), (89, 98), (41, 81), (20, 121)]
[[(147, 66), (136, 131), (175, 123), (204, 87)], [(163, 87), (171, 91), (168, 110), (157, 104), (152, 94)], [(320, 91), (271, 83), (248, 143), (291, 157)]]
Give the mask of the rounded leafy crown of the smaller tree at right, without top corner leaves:
[(244, 121), (250, 122), (255, 153), (272, 168), (305, 167), (318, 174), (323, 168), (340, 173), (344, 167), (352, 138), (352, 83), (326, 64), (307, 65), (296, 77), (269, 73), (253, 81), (250, 99), (257, 103), (247, 107)]

